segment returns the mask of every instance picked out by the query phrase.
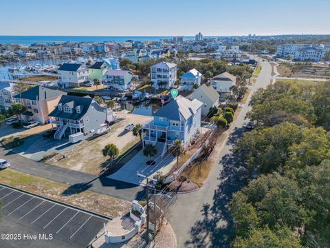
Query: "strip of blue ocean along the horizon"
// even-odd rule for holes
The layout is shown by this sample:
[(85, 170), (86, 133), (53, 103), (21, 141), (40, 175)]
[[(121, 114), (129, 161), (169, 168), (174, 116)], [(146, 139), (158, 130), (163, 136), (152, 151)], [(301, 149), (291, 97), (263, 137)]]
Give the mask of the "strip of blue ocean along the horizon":
[[(161, 39), (171, 39), (172, 37), (137, 37), (137, 36), (11, 36), (0, 35), (0, 44), (21, 44), (31, 45), (32, 43), (50, 42), (104, 42), (104, 41), (159, 41)], [(184, 37), (184, 40), (195, 39), (195, 37)]]

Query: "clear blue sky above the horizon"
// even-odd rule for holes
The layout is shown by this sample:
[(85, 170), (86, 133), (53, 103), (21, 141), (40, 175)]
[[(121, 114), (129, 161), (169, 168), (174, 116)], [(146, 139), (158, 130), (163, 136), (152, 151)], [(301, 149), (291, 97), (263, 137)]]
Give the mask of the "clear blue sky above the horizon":
[(1, 0), (0, 35), (330, 34), (330, 0)]

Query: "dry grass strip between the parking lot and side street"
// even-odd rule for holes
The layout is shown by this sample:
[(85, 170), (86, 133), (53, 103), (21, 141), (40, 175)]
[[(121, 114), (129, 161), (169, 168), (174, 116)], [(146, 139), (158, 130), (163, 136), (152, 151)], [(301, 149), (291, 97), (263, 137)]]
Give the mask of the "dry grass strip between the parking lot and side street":
[(126, 200), (97, 194), (89, 190), (79, 192), (75, 187), (47, 180), (39, 176), (17, 172), (9, 168), (0, 171), (0, 181), (12, 187), (59, 200), (63, 203), (104, 214), (112, 218), (126, 214), (131, 207), (131, 204)]

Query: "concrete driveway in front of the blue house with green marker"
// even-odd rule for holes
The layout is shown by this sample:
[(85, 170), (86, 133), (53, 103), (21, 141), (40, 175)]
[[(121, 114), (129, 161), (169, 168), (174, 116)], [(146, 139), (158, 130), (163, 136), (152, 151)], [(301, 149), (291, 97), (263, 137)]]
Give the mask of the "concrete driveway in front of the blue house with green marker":
[(144, 179), (138, 177), (137, 172), (148, 176), (152, 176), (157, 172), (166, 174), (175, 163), (175, 157), (170, 154), (165, 154), (164, 158), (152, 159), (155, 160), (155, 165), (146, 165), (146, 161), (150, 160), (150, 158), (144, 156), (143, 150), (141, 150), (122, 168), (114, 174), (107, 176), (107, 178), (140, 185)]

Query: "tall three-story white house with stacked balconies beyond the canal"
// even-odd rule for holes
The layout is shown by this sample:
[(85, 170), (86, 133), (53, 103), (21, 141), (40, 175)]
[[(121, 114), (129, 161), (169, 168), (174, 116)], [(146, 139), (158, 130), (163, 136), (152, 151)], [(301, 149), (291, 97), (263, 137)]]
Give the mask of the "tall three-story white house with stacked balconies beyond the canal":
[(177, 65), (175, 63), (159, 62), (150, 68), (153, 87), (169, 89), (177, 81)]

